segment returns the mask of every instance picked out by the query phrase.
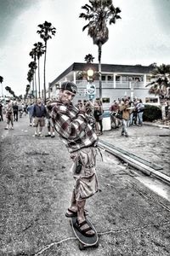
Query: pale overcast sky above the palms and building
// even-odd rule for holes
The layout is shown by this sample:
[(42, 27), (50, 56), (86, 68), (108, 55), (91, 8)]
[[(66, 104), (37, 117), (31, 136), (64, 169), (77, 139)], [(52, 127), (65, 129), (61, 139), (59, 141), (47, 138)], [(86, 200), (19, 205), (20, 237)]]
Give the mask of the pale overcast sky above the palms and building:
[[(3, 92), (8, 85), (18, 96), (25, 93), (29, 52), (41, 41), (37, 25), (45, 20), (56, 28), (48, 40), (47, 84), (73, 62), (84, 62), (85, 55), (94, 55), (98, 62), (97, 46), (87, 31), (82, 32), (87, 22), (78, 18), (85, 3), (88, 0), (0, 0)], [(113, 0), (113, 4), (122, 9), (122, 20), (109, 26), (102, 63), (170, 64), (170, 0)]]

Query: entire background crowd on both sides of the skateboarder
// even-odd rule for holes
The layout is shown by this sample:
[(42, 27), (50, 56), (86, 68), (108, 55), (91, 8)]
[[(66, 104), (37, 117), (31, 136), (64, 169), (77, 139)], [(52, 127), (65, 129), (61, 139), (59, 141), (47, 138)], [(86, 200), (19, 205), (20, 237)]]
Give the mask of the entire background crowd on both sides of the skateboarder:
[[(47, 126), (45, 137), (55, 137), (54, 123), (51, 118), (52, 108), (55, 101), (48, 99), (46, 105), (38, 98), (36, 103), (8, 102), (3, 108), (0, 103), (0, 120), (3, 121), (3, 114), (6, 117), (5, 130), (14, 129), (14, 121), (18, 122), (22, 115), (28, 114), (29, 125), (35, 128), (33, 137), (42, 137), (42, 129)], [(75, 105), (78, 109), (85, 108), (91, 119), (92, 126), (97, 136), (103, 134), (104, 108), (99, 98), (93, 100), (78, 100)], [(127, 127), (130, 125), (143, 125), (144, 104), (141, 99), (130, 97), (114, 100), (110, 107), (111, 128), (122, 127), (122, 136), (128, 137)]]

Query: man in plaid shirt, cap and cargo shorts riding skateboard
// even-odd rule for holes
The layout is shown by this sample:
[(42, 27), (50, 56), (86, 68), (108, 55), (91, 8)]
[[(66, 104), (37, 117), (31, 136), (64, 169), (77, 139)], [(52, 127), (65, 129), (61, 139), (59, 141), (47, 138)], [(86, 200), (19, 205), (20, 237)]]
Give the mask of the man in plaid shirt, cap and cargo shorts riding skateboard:
[(70, 153), (73, 165), (71, 167), (75, 179), (72, 192), (71, 207), (65, 216), (77, 216), (75, 228), (84, 236), (94, 236), (85, 218), (85, 203), (88, 197), (98, 191), (98, 181), (95, 172), (96, 144), (98, 137), (92, 125), (94, 119), (88, 116), (84, 105), (76, 108), (72, 100), (77, 93), (77, 85), (66, 81), (61, 84), (59, 100), (52, 109), (52, 119), (55, 130)]

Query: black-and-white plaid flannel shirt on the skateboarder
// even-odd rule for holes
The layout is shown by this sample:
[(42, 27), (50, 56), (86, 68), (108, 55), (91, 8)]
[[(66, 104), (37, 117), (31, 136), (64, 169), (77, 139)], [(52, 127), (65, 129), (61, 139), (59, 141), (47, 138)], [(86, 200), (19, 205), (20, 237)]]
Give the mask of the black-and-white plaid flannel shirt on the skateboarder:
[(69, 152), (92, 146), (98, 137), (90, 125), (88, 114), (72, 104), (56, 102), (51, 113), (55, 130), (59, 133)]

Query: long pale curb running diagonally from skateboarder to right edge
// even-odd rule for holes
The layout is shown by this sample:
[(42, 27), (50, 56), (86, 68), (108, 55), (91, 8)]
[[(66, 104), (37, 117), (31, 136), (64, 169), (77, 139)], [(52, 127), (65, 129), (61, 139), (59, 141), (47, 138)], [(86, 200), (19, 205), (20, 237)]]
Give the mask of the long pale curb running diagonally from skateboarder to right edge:
[(117, 148), (111, 143), (106, 143), (101, 139), (99, 139), (99, 148), (102, 148), (106, 152), (115, 155), (117, 158), (127, 162), (129, 166), (133, 166), (137, 170), (144, 172), (144, 174), (156, 177), (164, 183), (170, 185), (170, 177), (160, 172), (162, 170), (161, 166), (150, 163), (149, 161), (144, 160), (135, 154), (131, 154), (122, 148)]

